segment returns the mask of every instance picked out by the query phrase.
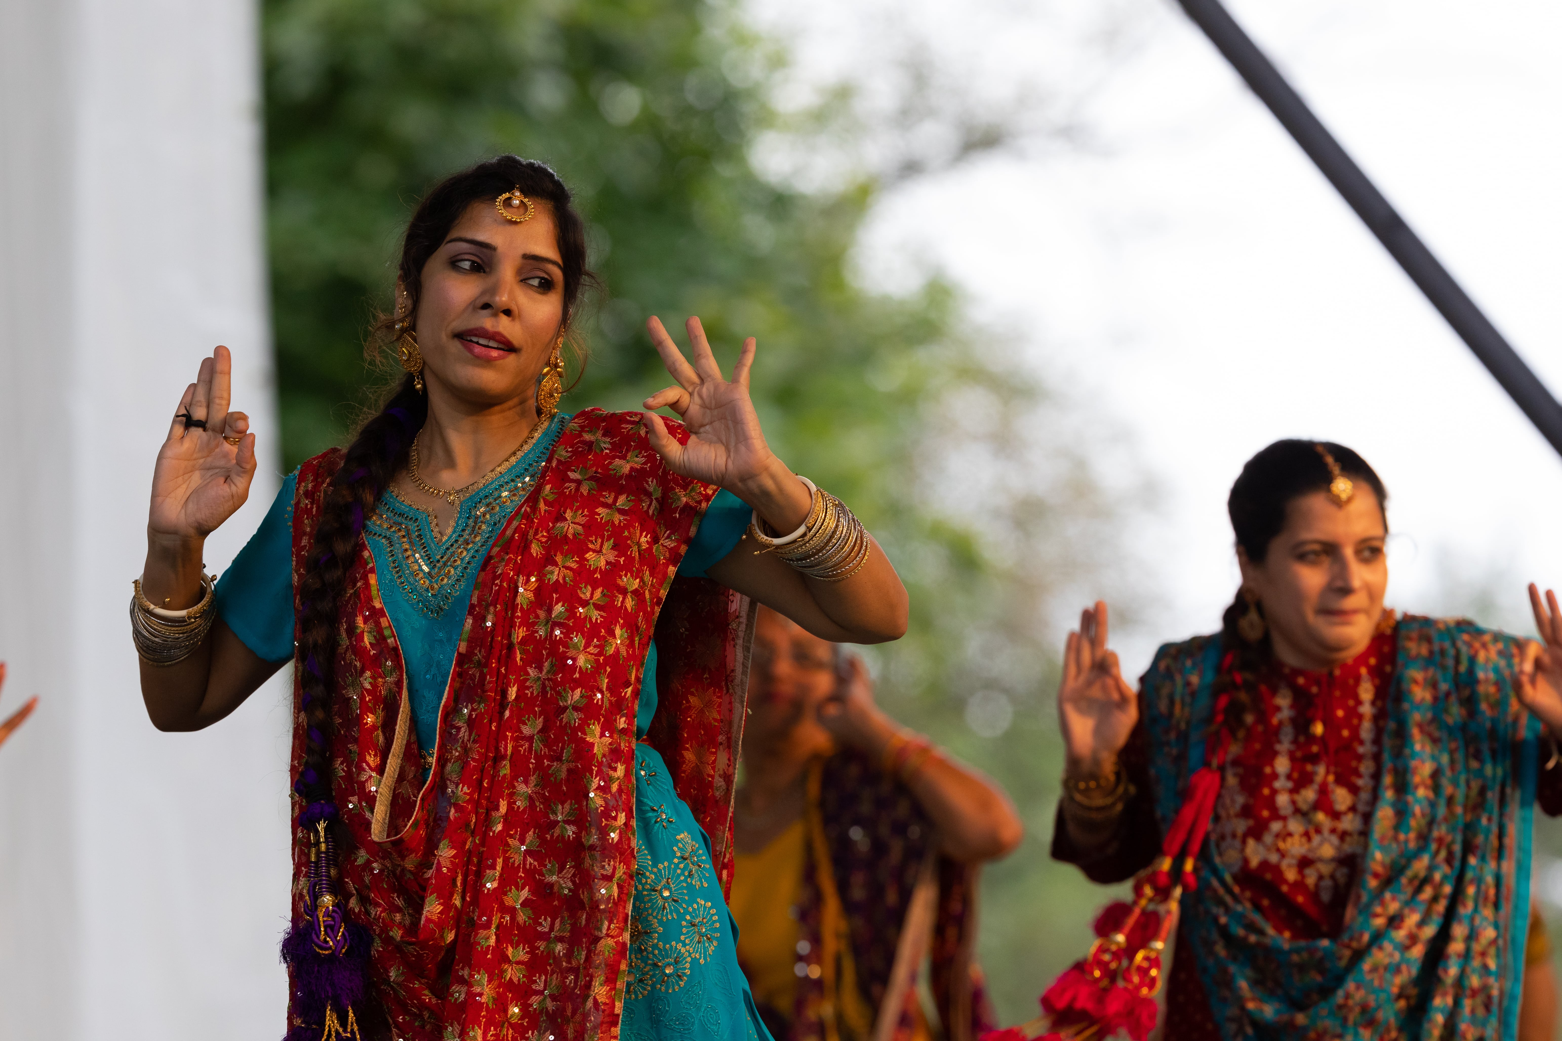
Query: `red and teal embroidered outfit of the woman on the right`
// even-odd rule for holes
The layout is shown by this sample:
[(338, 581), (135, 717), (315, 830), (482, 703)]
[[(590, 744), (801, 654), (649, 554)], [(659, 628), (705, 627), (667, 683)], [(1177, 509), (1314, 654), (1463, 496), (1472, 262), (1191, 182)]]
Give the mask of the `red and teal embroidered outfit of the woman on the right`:
[[(1326, 673), (1271, 665), (1226, 760), (1167, 983), (1165, 1041), (1496, 1038), (1518, 1011), (1529, 821), (1562, 812), (1518, 705), (1518, 640), (1385, 618)], [(1150, 866), (1203, 765), (1220, 638), (1161, 648), (1123, 752), (1114, 837), (1053, 855), (1098, 882)], [(1236, 707), (1231, 710), (1236, 713)]]

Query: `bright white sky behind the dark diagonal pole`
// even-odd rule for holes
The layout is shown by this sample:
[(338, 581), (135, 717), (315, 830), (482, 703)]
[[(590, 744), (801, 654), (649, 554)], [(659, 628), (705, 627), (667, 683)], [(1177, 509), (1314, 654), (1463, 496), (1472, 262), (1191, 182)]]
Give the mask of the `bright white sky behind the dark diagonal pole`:
[[(1562, 8), (1229, 6), (1562, 389)], [(1043, 371), (1137, 442), (1161, 492), (1134, 535), (1159, 604), (1120, 641), (1128, 670), (1154, 643), (1218, 624), (1236, 588), (1225, 496), (1279, 437), (1351, 445), (1389, 484), (1390, 604), (1451, 606), (1453, 570), (1501, 592), (1500, 615), (1482, 621), (1517, 624), (1523, 581), (1562, 585), (1562, 459), (1179, 8), (814, 0), (786, 11), (811, 75), (872, 87), (875, 45), (917, 36), (972, 91), (1031, 83), (1082, 98), (1089, 147), (986, 159), (897, 190), (861, 265), (884, 286), (942, 267), (981, 318), (1022, 329)], [(1101, 44), (1103, 25), (1115, 42)]]

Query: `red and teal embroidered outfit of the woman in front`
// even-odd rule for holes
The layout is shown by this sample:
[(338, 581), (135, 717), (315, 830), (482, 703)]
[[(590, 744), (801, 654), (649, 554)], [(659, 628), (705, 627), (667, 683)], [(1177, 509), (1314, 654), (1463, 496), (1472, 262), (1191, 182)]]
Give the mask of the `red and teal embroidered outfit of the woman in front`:
[[(556, 423), (462, 504), (448, 545), (392, 498), (351, 567), (331, 744), (376, 1002), (409, 1041), (765, 1036), (723, 896), (750, 610), (678, 577), (717, 490), (667, 471), (639, 414)], [(292, 596), (337, 465), (297, 474), (286, 582), (245, 582), (242, 559), (225, 576), (241, 638), (253, 599), (230, 582)], [(450, 626), (420, 629), (409, 602), (455, 612), (448, 649)], [(445, 656), (431, 698), (419, 670)], [(297, 774), (297, 702), (295, 719)]]

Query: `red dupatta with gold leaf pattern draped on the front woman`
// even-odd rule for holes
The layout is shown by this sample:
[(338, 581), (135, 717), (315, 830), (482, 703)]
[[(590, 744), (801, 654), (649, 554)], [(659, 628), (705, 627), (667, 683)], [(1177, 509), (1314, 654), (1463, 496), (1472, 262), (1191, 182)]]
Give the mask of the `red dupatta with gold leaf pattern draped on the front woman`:
[[(298, 471), (294, 588), (339, 465), (333, 451)], [(665, 677), (656, 746), (729, 877), (750, 610), (714, 582), (673, 581), (714, 493), (662, 467), (639, 414), (589, 409), (570, 421), (478, 573), (426, 785), (415, 735), (397, 727), (403, 659), (359, 542), (341, 610), (331, 766), (341, 888), (373, 932), (370, 980), (394, 1036), (617, 1038), (634, 713), (653, 631)], [(298, 705), (295, 670), (294, 777)], [(376, 841), (378, 787), (397, 752)], [(294, 921), (306, 863), (295, 841)]]

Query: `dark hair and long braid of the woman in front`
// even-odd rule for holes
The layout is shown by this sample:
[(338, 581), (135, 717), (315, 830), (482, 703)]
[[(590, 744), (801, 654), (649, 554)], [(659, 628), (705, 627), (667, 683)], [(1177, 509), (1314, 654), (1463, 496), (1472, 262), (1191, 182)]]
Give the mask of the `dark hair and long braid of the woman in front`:
[[(595, 286), (586, 267), (586, 226), (564, 181), (542, 162), (498, 156), (455, 173), (419, 203), (401, 239), (397, 275), (406, 303), (397, 300), (392, 314), (375, 326), (370, 350), (395, 339), (395, 322), (412, 320), (423, 287), (423, 267), (472, 203), (492, 204), (519, 187), (537, 211), (551, 211), (558, 226), (559, 259), (564, 264), (564, 323), (580, 306), (581, 290)], [(314, 548), (298, 584), (298, 660), (303, 663), (305, 763), (295, 791), (306, 804), (331, 802), (331, 699), (334, 696), (336, 629), (347, 576), (358, 557), (364, 520), (406, 465), (412, 439), (428, 417), (428, 400), (406, 376), (384, 406), (369, 418), (347, 446), (341, 468), (325, 493)]]

